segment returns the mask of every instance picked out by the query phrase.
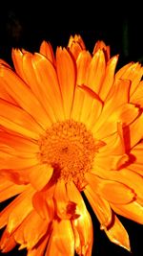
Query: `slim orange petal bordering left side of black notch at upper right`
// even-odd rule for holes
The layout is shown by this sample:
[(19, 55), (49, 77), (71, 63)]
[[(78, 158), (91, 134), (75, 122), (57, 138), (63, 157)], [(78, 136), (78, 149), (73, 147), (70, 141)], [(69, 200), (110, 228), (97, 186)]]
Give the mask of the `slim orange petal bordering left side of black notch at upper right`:
[(114, 71), (115, 71), (117, 60), (118, 60), (118, 56), (114, 56), (107, 63), (106, 71), (105, 71), (105, 78), (102, 82), (102, 86), (101, 86), (100, 92), (99, 92), (99, 95), (100, 95), (102, 101), (104, 101), (106, 99), (110, 90), (112, 89), (112, 84), (114, 81)]

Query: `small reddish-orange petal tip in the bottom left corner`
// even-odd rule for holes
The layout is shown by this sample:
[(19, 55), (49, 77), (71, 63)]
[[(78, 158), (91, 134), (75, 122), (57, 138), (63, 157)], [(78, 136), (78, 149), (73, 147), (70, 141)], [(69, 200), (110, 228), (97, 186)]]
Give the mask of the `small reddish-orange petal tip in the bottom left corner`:
[(3, 232), (3, 235), (0, 240), (0, 249), (3, 253), (10, 252), (16, 246), (16, 242), (12, 235), (8, 232), (7, 229)]

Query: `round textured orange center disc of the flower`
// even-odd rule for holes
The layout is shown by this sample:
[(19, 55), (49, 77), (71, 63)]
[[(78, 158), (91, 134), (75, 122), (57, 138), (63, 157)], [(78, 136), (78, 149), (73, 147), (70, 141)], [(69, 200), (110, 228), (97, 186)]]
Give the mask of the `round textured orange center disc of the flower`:
[(58, 122), (39, 140), (40, 159), (53, 167), (56, 178), (72, 180), (82, 190), (84, 175), (92, 170), (94, 154), (101, 144), (84, 124), (73, 120)]

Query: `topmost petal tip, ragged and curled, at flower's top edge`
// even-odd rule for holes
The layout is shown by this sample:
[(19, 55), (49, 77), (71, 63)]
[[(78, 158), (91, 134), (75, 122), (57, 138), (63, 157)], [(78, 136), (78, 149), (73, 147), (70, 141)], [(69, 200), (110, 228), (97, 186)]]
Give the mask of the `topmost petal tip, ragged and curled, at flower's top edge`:
[(86, 49), (82, 37), (80, 35), (71, 35), (68, 43), (68, 49), (71, 51), (72, 56), (75, 59), (78, 58), (79, 54)]

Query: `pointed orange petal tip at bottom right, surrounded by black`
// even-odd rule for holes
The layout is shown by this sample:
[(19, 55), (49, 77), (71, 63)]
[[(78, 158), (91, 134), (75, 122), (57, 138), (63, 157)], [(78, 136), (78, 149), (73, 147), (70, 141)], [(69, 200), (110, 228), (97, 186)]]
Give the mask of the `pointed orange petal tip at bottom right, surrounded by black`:
[(105, 229), (105, 232), (112, 243), (131, 251), (128, 233), (116, 216), (114, 216), (112, 226), (109, 229)]

